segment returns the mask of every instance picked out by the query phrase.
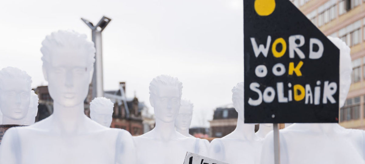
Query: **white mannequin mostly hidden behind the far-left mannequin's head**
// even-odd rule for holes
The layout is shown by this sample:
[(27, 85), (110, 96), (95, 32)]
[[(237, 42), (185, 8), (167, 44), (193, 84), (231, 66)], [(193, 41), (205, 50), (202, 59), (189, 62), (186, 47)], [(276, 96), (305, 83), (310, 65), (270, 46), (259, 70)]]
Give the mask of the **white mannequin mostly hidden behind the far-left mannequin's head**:
[(35, 122), (35, 117), (38, 113), (38, 95), (34, 93), (34, 90), (30, 91), (30, 104), (27, 116), (24, 118), (22, 125), (32, 125)]

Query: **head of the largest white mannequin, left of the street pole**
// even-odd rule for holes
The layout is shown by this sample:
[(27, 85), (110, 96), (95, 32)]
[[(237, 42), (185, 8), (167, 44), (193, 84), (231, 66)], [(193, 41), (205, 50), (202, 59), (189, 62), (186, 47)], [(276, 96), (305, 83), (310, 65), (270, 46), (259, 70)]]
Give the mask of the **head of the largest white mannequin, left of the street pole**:
[(84, 102), (95, 62), (94, 43), (74, 31), (57, 31), (42, 42), (43, 75), (54, 102), (65, 107)]

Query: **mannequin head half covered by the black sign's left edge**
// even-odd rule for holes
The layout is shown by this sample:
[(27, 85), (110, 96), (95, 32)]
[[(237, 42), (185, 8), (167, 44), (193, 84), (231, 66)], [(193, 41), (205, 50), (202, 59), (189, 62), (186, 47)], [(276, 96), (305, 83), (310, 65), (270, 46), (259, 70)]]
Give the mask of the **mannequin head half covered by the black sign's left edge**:
[(240, 82), (233, 87), (232, 102), (234, 109), (236, 109), (238, 113), (238, 117), (244, 120), (245, 117), (243, 117), (243, 82)]

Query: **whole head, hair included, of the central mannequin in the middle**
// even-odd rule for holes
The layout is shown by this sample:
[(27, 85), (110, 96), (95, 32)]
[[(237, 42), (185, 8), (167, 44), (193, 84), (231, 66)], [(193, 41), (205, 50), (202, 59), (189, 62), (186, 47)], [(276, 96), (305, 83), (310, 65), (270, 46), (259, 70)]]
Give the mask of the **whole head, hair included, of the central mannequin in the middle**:
[(160, 75), (152, 79), (149, 89), (156, 119), (174, 122), (180, 108), (183, 84), (177, 78)]

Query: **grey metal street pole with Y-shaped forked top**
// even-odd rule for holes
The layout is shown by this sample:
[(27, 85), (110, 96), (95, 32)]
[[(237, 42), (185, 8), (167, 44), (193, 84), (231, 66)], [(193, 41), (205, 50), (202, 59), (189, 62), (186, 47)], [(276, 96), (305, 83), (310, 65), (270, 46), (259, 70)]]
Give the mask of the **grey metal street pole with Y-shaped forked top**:
[(92, 41), (95, 44), (95, 63), (94, 63), (94, 74), (92, 77), (92, 99), (95, 97), (103, 97), (104, 89), (103, 89), (103, 53), (102, 53), (102, 44), (101, 44), (101, 32), (103, 32), (104, 28), (111, 21), (110, 18), (103, 16), (99, 23), (95, 26), (84, 18), (81, 18), (90, 28), (91, 28), (91, 36)]

